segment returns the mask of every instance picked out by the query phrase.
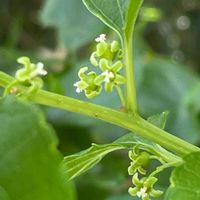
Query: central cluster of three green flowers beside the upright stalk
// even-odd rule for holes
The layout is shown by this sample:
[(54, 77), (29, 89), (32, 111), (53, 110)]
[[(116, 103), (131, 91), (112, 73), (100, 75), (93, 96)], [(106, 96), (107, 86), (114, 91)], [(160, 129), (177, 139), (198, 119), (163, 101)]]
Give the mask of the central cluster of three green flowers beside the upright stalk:
[(95, 39), (97, 42), (96, 50), (90, 56), (90, 62), (94, 67), (100, 69), (97, 74), (94, 71), (88, 71), (88, 67), (82, 67), (78, 76), (80, 81), (76, 82), (76, 92), (85, 92), (87, 98), (94, 98), (102, 91), (102, 85), (107, 92), (112, 92), (114, 87), (125, 83), (125, 78), (119, 74), (123, 67), (122, 50), (117, 41), (106, 42), (106, 35), (101, 34)]

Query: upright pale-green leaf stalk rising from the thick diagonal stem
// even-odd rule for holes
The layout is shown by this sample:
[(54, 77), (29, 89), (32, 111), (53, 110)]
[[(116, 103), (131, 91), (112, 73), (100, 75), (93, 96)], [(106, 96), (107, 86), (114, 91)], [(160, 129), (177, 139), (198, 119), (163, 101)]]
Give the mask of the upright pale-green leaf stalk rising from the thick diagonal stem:
[(134, 73), (135, 69), (133, 64), (132, 37), (127, 38), (124, 36), (123, 50), (126, 74), (126, 108), (132, 113), (137, 113), (138, 108)]

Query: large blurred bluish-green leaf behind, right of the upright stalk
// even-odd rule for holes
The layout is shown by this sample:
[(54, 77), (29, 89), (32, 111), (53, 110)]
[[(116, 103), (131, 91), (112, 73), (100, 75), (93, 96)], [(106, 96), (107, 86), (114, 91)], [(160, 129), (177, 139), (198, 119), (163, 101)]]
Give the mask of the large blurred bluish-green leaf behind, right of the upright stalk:
[(183, 67), (162, 58), (148, 62), (138, 88), (140, 110), (145, 116), (168, 110), (167, 129), (197, 143), (200, 124), (188, 97), (200, 80)]

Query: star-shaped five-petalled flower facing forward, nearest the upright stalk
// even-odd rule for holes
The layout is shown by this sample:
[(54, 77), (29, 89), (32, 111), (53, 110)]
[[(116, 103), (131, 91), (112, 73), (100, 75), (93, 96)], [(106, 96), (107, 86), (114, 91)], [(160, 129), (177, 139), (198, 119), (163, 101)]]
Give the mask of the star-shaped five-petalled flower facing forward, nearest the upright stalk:
[(102, 73), (96, 78), (95, 83), (101, 84), (105, 82), (105, 90), (107, 92), (112, 92), (115, 85), (125, 83), (125, 78), (118, 73), (122, 68), (121, 61), (110, 64), (108, 60), (102, 58), (99, 62), (99, 67)]

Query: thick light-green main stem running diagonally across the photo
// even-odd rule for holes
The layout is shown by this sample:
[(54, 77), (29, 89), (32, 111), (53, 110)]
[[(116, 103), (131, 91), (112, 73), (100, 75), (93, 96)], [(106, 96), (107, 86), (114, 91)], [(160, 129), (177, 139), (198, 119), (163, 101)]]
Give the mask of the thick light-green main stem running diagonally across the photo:
[[(13, 78), (0, 72), (0, 85), (6, 87), (13, 81)], [(137, 114), (130, 115), (107, 107), (80, 101), (74, 98), (62, 96), (52, 92), (39, 90), (36, 94), (31, 94), (29, 100), (33, 103), (60, 108), (63, 110), (84, 114), (90, 117), (115, 124), (122, 128), (135, 132), (142, 137), (160, 144), (164, 148), (184, 156), (200, 149), (166, 131), (150, 124)]]

